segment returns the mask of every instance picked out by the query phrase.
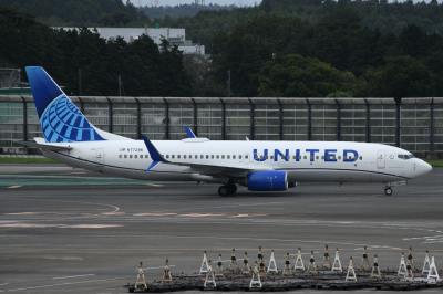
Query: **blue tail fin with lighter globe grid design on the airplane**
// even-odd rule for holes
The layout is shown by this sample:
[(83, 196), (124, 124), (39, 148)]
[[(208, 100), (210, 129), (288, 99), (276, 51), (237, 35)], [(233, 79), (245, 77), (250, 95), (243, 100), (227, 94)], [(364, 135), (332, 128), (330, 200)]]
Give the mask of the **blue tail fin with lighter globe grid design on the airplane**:
[(41, 66), (27, 66), (37, 113), (49, 143), (104, 140)]

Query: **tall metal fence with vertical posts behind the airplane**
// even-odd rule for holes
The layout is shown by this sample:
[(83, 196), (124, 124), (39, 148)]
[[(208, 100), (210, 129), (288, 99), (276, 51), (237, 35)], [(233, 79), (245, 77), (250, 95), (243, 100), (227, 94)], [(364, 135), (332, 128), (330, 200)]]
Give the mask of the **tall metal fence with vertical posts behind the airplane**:
[[(224, 140), (351, 140), (443, 157), (443, 98), (72, 97), (95, 126), (119, 135), (181, 139), (183, 126)], [(0, 150), (41, 136), (32, 97), (0, 96)]]

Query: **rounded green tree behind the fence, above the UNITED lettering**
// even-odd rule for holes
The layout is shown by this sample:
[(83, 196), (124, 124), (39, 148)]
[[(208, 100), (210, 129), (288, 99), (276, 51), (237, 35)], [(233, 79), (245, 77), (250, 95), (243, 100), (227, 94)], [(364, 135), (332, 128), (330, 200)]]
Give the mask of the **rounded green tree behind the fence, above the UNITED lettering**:
[(330, 64), (298, 54), (267, 62), (259, 75), (259, 95), (276, 97), (324, 97), (352, 95), (354, 76)]

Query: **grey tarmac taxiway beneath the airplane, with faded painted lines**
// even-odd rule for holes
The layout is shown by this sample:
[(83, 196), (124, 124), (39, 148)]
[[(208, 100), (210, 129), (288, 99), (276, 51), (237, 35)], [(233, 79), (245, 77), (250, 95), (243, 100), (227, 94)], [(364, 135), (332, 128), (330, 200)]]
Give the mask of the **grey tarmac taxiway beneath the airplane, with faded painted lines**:
[[(394, 269), (414, 250), (443, 265), (443, 169), (396, 187), (302, 185), (284, 193), (240, 189), (222, 198), (217, 186), (153, 183), (97, 177), (64, 166), (0, 167), (0, 293), (125, 293), (135, 266), (194, 272), (202, 253), (251, 259), (258, 245), (286, 252), (326, 243), (360, 263), (363, 246)], [(151, 269), (150, 280), (161, 270)], [(298, 291), (298, 293), (302, 293)], [(324, 293), (324, 292), (315, 292)], [(338, 292), (334, 292), (338, 293)]]

